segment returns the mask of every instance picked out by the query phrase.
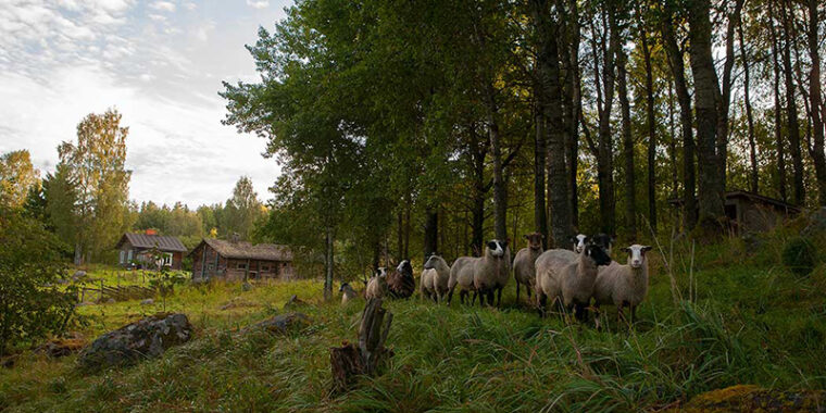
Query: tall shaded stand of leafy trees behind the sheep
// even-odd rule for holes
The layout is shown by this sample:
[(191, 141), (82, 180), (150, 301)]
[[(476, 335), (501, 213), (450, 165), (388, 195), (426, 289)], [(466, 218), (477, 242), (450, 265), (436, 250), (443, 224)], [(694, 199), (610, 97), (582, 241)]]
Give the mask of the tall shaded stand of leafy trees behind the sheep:
[(826, 204), (825, 11), (301, 1), (248, 46), (261, 78), (225, 84), (224, 122), (267, 139), (262, 234), (324, 254), (328, 288), (534, 230), (713, 239), (726, 190)]

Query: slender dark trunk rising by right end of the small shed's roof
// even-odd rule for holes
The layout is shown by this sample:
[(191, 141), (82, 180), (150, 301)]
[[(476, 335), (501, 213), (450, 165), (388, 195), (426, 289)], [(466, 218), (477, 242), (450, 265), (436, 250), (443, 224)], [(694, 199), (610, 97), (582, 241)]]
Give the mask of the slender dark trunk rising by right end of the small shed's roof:
[(800, 151), (800, 125), (798, 123), (798, 104), (794, 98), (794, 79), (792, 73), (794, 68), (791, 66), (791, 22), (789, 13), (791, 11), (786, 10), (784, 1), (780, 1), (780, 14), (783, 17), (783, 33), (786, 42), (783, 48), (783, 64), (784, 75), (786, 79), (786, 115), (787, 127), (789, 130), (789, 145), (791, 153), (792, 164), (792, 183), (794, 189), (793, 202), (798, 205), (802, 205), (805, 201), (805, 188), (803, 187), (803, 157)]

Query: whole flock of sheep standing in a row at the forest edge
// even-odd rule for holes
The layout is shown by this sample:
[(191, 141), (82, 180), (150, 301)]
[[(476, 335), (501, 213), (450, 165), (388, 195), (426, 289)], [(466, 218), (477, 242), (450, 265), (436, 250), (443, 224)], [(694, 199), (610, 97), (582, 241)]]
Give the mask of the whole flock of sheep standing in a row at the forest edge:
[[(587, 309), (600, 305), (615, 305), (617, 316), (625, 318), (624, 308), (630, 310), (634, 323), (637, 306), (648, 292), (649, 246), (631, 245), (623, 248), (627, 263), (611, 260), (613, 239), (604, 234), (593, 237), (577, 235), (571, 237), (572, 249), (542, 251), (543, 236), (538, 233), (525, 235), (526, 248), (516, 252), (511, 261), (511, 250), (506, 241), (490, 240), (481, 256), (460, 256), (452, 265), (439, 255), (430, 255), (424, 263), (420, 280), (422, 298), (450, 304), (458, 289), (461, 302), (474, 305), (476, 298), (484, 305), (500, 305), (502, 289), (511, 278), (511, 270), (516, 280), (516, 301), (520, 290), (525, 287), (528, 302), (535, 293), (535, 304), (542, 316), (548, 301), (562, 311), (573, 313), (577, 320), (586, 321)], [(379, 268), (366, 283), (365, 298), (408, 298), (415, 291), (415, 279), (410, 261), (402, 261), (391, 274)], [(341, 301), (347, 303), (358, 297), (358, 292), (343, 283), (339, 291)], [(471, 296), (472, 297), (468, 297)], [(495, 300), (496, 299), (496, 300)], [(599, 311), (596, 311), (599, 326)]]

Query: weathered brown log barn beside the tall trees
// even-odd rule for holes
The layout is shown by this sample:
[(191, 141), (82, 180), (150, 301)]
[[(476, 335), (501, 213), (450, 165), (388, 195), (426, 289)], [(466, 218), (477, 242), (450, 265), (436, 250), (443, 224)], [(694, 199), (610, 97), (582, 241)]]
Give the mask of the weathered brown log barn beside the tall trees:
[(205, 238), (189, 255), (192, 280), (247, 280), (292, 277), (292, 252), (276, 243), (250, 243)]

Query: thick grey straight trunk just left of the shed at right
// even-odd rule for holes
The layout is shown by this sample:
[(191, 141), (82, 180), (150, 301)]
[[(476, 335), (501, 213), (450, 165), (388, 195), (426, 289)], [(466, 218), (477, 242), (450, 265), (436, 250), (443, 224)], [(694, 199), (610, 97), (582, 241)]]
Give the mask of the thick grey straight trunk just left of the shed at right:
[(694, 79), (694, 111), (697, 112), (698, 139), (698, 203), (699, 222), (709, 229), (719, 229), (719, 221), (725, 216), (725, 177), (719, 175), (723, 153), (717, 151), (718, 115), (721, 91), (714, 59), (711, 54), (711, 4), (709, 0), (689, 3), (689, 41), (691, 47), (691, 73)]

